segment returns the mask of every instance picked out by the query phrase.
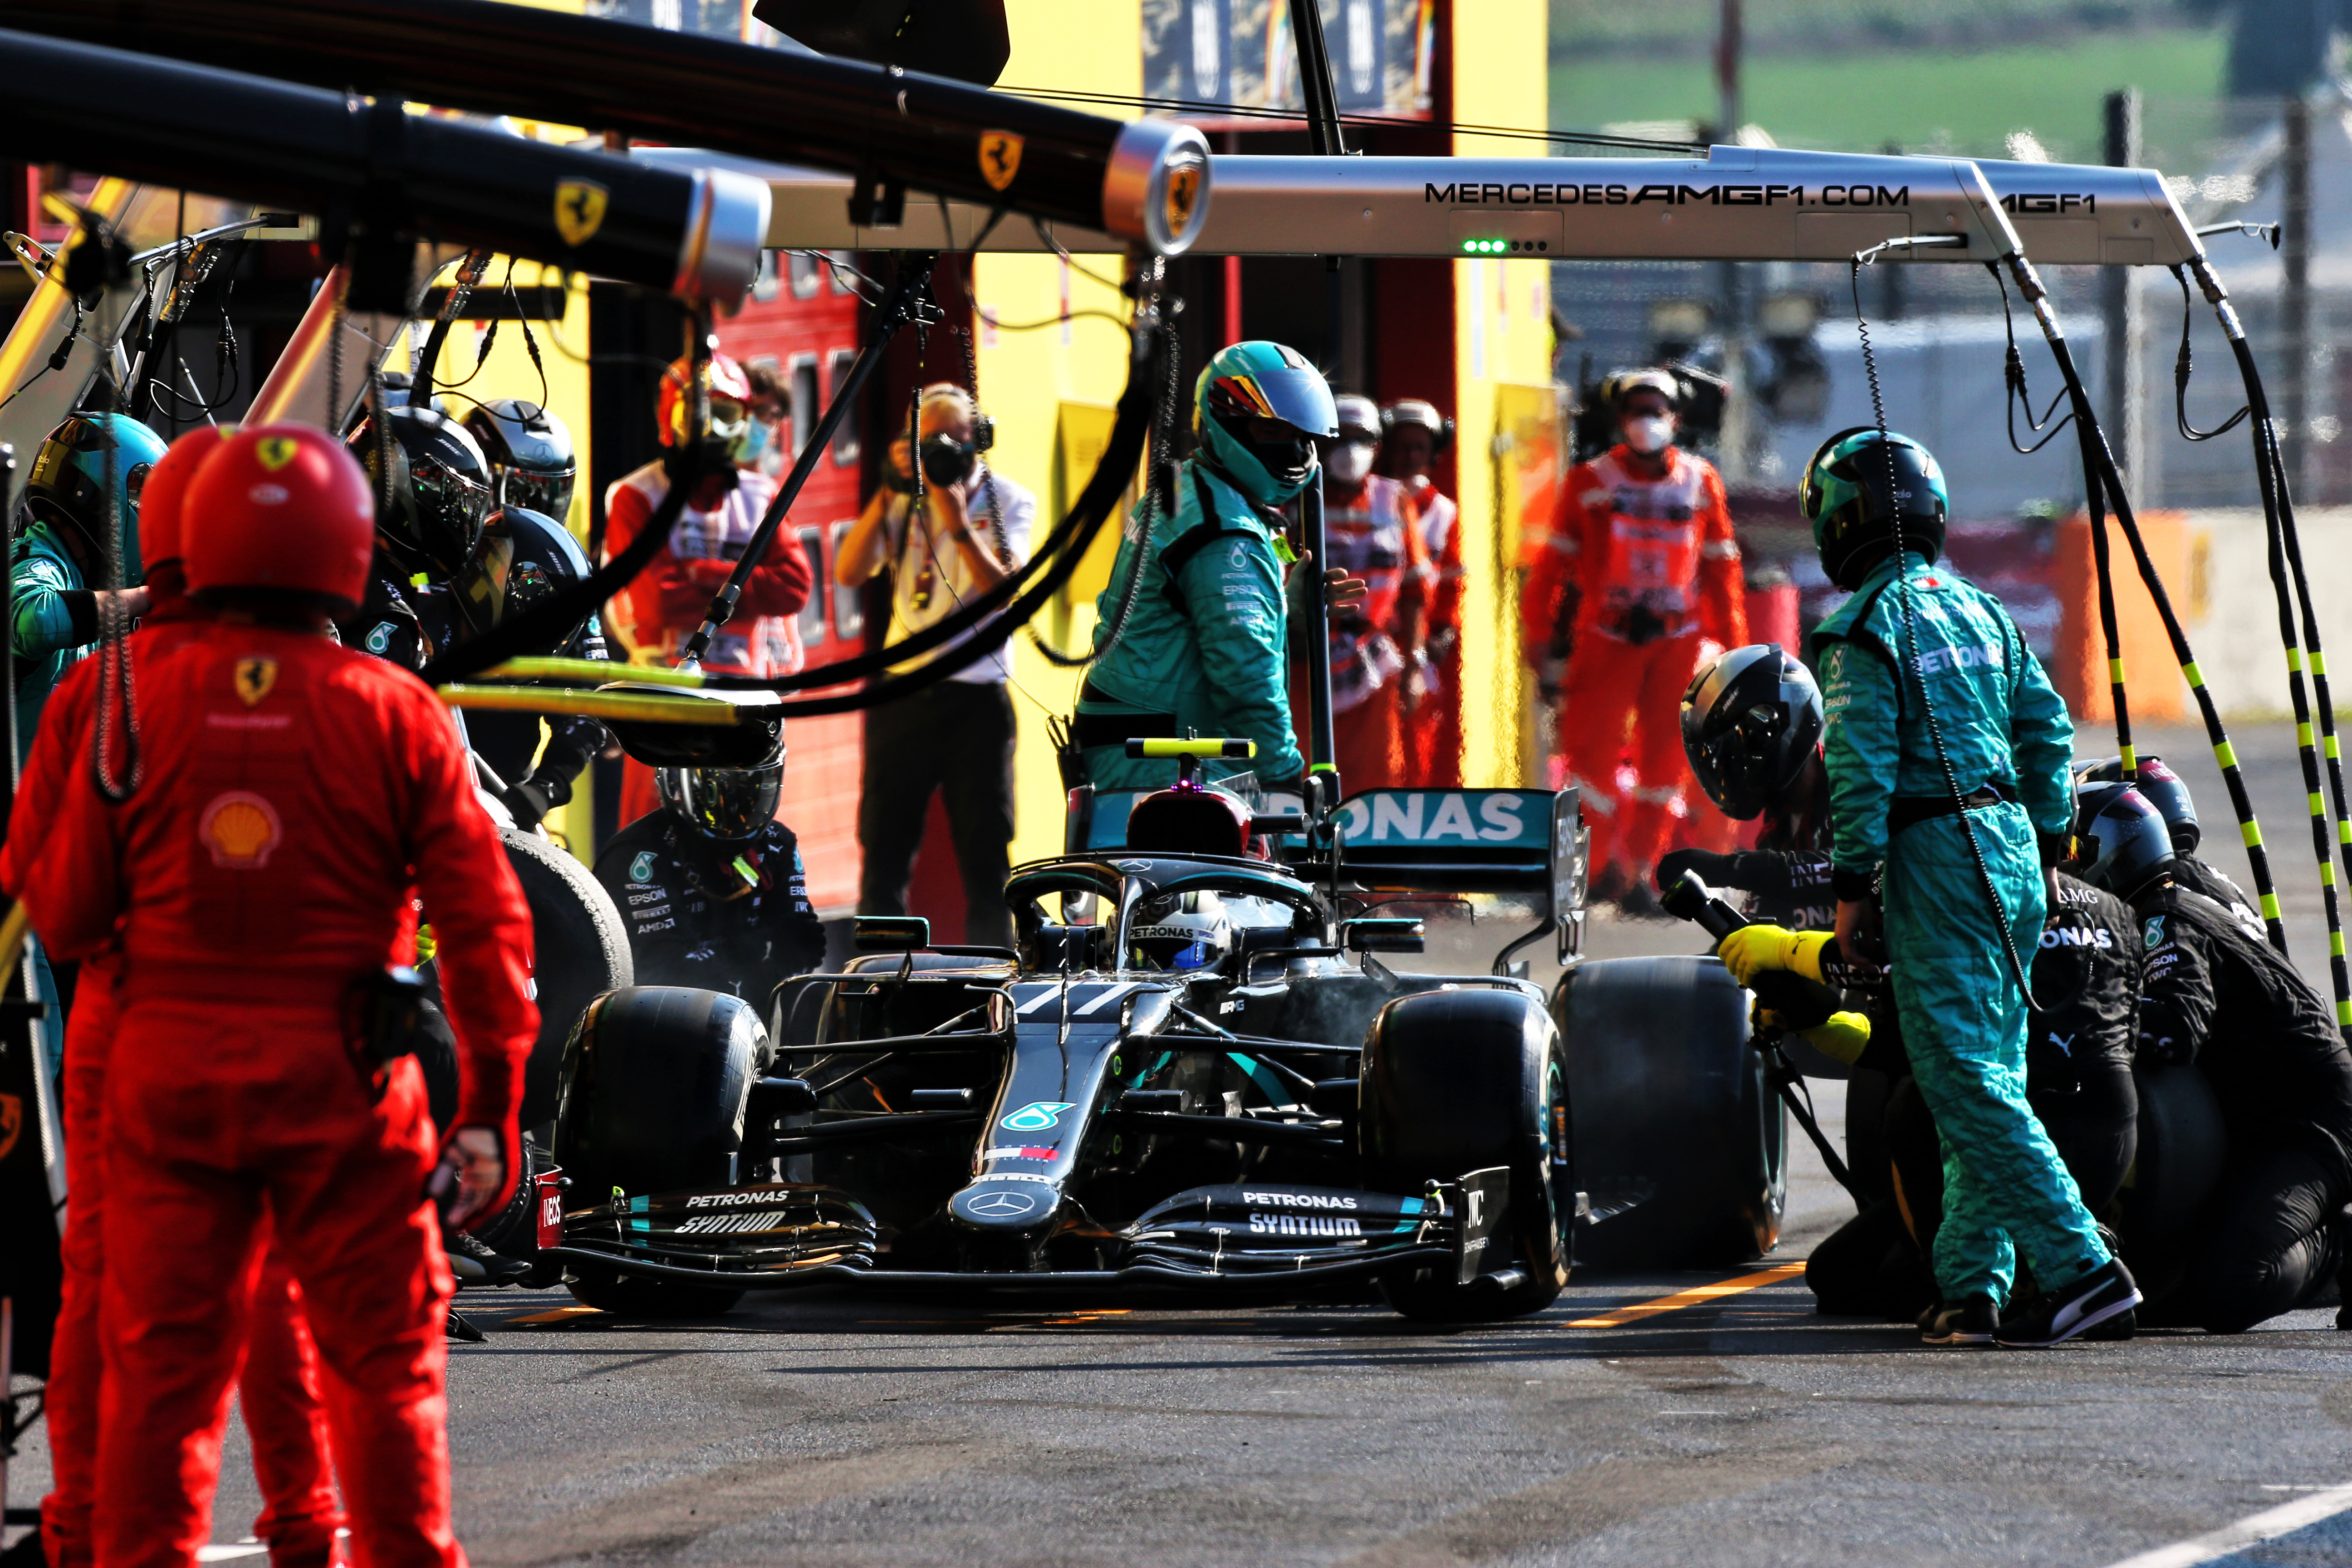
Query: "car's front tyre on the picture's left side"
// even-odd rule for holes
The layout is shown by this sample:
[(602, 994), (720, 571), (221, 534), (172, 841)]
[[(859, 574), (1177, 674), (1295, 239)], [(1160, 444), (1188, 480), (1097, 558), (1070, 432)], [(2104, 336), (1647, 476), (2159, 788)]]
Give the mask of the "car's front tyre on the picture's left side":
[[(581, 1204), (731, 1187), (743, 1107), (767, 1058), (767, 1030), (741, 997), (682, 985), (597, 997), (564, 1046), (555, 1164)], [(743, 1298), (576, 1260), (564, 1284), (583, 1305), (628, 1316), (708, 1316)]]

